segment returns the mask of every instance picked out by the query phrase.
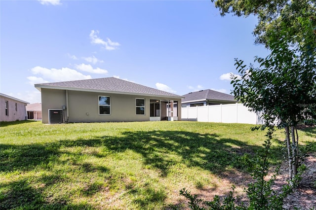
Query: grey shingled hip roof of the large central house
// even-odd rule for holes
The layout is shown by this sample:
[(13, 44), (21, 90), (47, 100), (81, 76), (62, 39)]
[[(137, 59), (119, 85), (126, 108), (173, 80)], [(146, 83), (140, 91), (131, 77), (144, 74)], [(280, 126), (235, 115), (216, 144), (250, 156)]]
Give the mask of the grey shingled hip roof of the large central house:
[(129, 82), (115, 77), (106, 77), (98, 79), (85, 79), (76, 81), (53, 82), (35, 84), (39, 90), (41, 88), (60, 89), (60, 90), (76, 90), (88, 92), (107, 92), (115, 94), (128, 95), (145, 95), (145, 96), (163, 96), (182, 99), (184, 97), (161, 91), (155, 88), (146, 87), (144, 85)]

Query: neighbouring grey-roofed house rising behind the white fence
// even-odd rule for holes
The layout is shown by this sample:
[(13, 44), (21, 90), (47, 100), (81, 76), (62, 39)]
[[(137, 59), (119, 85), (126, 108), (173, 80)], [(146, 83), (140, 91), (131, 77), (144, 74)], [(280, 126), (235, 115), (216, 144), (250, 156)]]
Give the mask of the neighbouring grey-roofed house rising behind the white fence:
[(181, 101), (182, 107), (237, 103), (234, 96), (209, 89), (188, 93), (183, 97), (185, 98)]

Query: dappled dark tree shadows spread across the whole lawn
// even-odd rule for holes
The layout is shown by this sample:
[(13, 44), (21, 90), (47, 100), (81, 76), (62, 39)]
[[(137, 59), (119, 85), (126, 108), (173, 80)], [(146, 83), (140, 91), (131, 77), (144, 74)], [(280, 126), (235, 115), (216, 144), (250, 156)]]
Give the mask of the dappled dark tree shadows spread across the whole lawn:
[[(108, 183), (112, 183), (116, 181), (116, 177), (111, 177), (114, 175), (111, 173), (114, 172), (102, 165), (95, 166), (82, 162), (80, 159), (82, 153), (67, 150), (67, 148), (105, 147), (111, 151), (111, 154), (119, 155), (120, 152), (131, 150), (141, 155), (143, 164), (149, 169), (159, 171), (161, 177), (169, 175), (172, 166), (181, 161), (189, 168), (199, 167), (212, 174), (228, 178), (223, 172), (229, 169), (242, 171), (245, 166), (240, 157), (245, 153), (252, 155), (261, 148), (260, 146), (248, 145), (241, 140), (221, 138), (215, 133), (199, 134), (185, 131), (122, 132), (119, 136), (90, 138), (59, 140), (44, 144), (0, 144), (0, 172), (26, 172), (33, 170), (34, 167), (43, 167), (43, 170), (49, 171), (48, 165), (72, 164), (76, 170), (86, 174), (96, 171), (110, 174)], [(89, 155), (97, 158), (106, 157), (98, 152)], [(74, 160), (66, 160), (63, 163), (60, 160), (62, 156), (72, 156)], [(179, 158), (174, 159), (174, 156)], [(67, 181), (58, 173), (56, 171), (51, 175), (41, 175), (37, 182), (43, 183), (43, 186), (38, 188), (33, 187), (26, 179), (1, 185), (1, 189), (3, 189), (0, 200), (1, 209), (19, 207), (36, 209), (39, 206), (43, 206), (43, 209), (93, 209), (93, 206), (87, 204), (74, 206), (67, 196), (49, 201), (42, 195), (42, 192), (49, 189), (50, 186)], [(102, 191), (103, 188), (103, 183), (92, 181), (80, 189), (80, 195), (91, 197)], [(131, 201), (140, 209), (163, 205), (167, 195), (165, 189), (157, 189), (147, 185), (131, 185), (126, 189), (127, 193), (132, 196)]]

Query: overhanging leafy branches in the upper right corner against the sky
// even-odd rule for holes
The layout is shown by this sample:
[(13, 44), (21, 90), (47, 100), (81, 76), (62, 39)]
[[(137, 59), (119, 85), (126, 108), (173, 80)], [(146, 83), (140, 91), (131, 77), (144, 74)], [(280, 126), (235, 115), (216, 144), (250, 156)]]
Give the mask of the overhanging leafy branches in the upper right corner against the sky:
[[(271, 35), (278, 36), (282, 28), (286, 27), (286, 39), (292, 43), (300, 43), (302, 35), (298, 18), (316, 19), (316, 0), (212, 0), (220, 9), (221, 15), (233, 13), (237, 16), (254, 15), (258, 18), (253, 34), (255, 43), (265, 44)], [(315, 33), (316, 33), (316, 29)]]

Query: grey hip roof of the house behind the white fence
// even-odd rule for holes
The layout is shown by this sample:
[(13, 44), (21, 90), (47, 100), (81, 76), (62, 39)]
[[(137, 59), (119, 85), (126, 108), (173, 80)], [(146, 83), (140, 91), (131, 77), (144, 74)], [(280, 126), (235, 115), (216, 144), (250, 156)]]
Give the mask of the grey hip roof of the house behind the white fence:
[(185, 99), (182, 99), (182, 103), (197, 102), (197, 101), (229, 101), (237, 102), (234, 96), (217, 92), (214, 90), (200, 90), (197, 92), (188, 93), (183, 95)]

